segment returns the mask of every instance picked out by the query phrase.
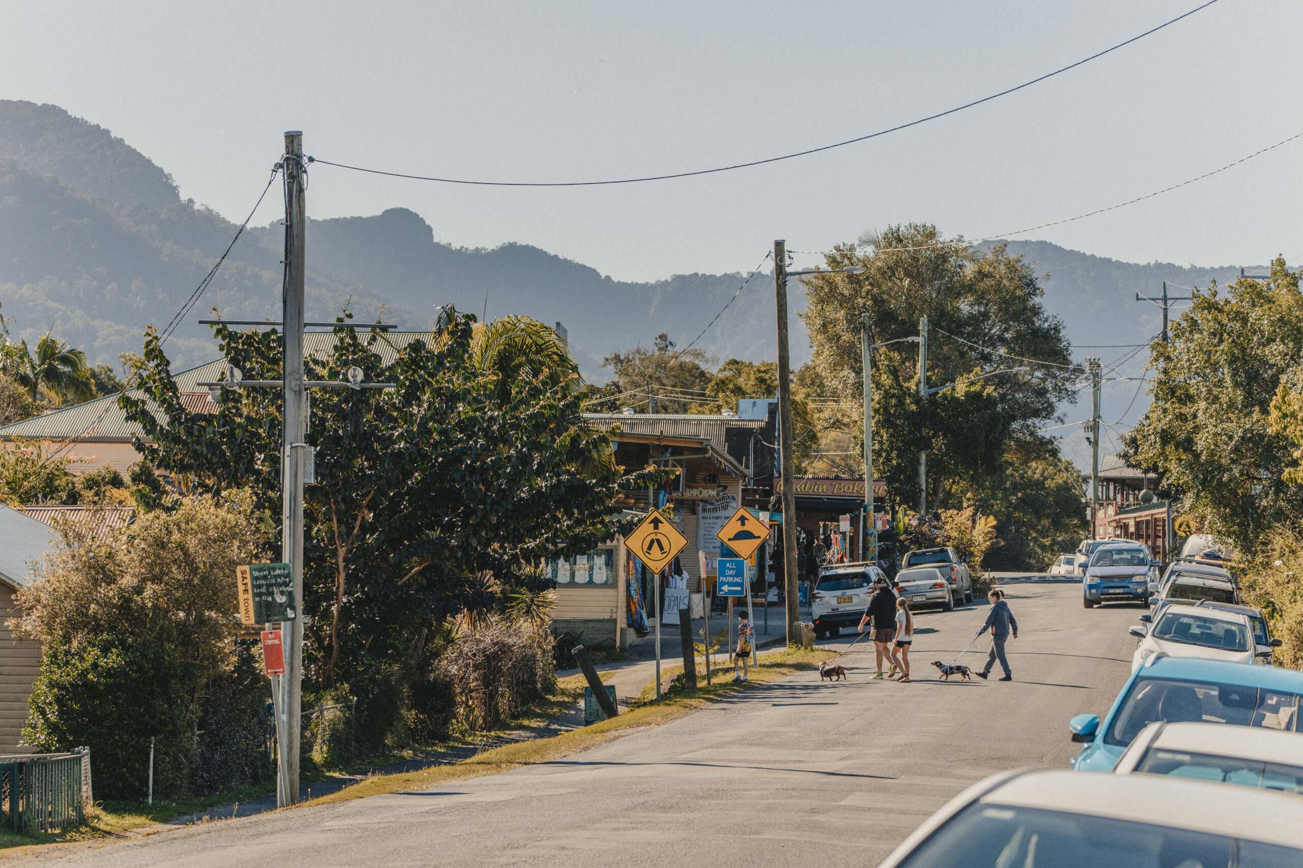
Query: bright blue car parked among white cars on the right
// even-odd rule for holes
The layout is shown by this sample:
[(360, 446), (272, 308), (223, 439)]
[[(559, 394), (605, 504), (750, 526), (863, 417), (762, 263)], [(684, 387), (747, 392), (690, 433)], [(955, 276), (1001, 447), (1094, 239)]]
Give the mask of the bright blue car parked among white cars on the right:
[(1071, 760), (1076, 772), (1111, 772), (1118, 757), (1154, 721), (1261, 726), (1300, 732), (1303, 673), (1194, 657), (1153, 656), (1127, 680), (1104, 722), (1095, 714), (1068, 721), (1085, 744)]

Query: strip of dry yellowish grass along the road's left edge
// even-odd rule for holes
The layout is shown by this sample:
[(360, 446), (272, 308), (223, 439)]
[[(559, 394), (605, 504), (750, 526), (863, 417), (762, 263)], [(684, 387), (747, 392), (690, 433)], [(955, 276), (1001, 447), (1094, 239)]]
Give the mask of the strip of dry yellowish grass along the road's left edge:
[[(787, 675), (792, 675), (795, 673), (816, 669), (820, 661), (827, 659), (833, 656), (833, 652), (818, 649), (787, 649), (761, 658), (761, 662), (752, 667), (751, 680), (747, 684), (734, 684), (726, 678), (719, 678), (714, 684), (706, 687), (705, 679), (702, 678), (701, 686), (697, 687), (697, 689), (684, 689), (681, 692), (675, 691), (674, 695), (666, 696), (659, 702), (654, 699), (650, 701), (642, 701), (642, 697), (640, 697), (636, 708), (631, 708), (627, 713), (620, 714), (615, 719), (601, 721), (592, 726), (571, 730), (546, 739), (519, 742), (516, 744), (493, 748), (490, 751), (483, 751), (469, 760), (463, 760), (461, 762), (438, 765), (401, 774), (377, 775), (374, 778), (367, 778), (357, 786), (348, 787), (347, 790), (322, 796), (319, 799), (313, 799), (310, 804), (348, 802), (384, 792), (427, 790), (444, 783), (466, 781), (469, 778), (478, 778), (486, 774), (509, 772), (511, 769), (519, 769), (526, 765), (549, 762), (569, 753), (586, 751), (605, 742), (620, 738), (632, 730), (648, 726), (663, 726), (665, 723), (670, 723), (671, 721), (676, 721), (680, 717), (691, 714), (715, 699), (741, 693), (752, 684), (764, 684), (779, 678), (786, 678)], [(681, 666), (665, 669), (662, 670), (662, 676), (672, 678), (675, 674), (681, 671)], [(715, 671), (717, 670), (713, 669), (711, 674)], [(732, 673), (732, 669), (718, 671)], [(605, 674), (606, 673), (603, 673), (603, 675)], [(573, 678), (580, 679), (579, 692), (582, 693), (582, 676), (576, 675)], [(650, 686), (650, 692), (654, 696), (654, 684)], [(648, 691), (644, 691), (644, 696), (646, 693)]]

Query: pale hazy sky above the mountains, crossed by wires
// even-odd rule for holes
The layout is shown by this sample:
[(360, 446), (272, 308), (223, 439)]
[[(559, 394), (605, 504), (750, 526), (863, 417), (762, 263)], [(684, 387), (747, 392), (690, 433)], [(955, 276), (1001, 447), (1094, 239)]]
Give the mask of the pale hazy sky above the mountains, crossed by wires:
[[(4, 3), (0, 95), (102, 124), (241, 220), (302, 129), (323, 159), (588, 180), (762, 159), (1003, 90), (1199, 5), (1147, 3)], [(405, 206), (616, 279), (753, 268), (868, 228), (969, 237), (1143, 195), (1303, 132), (1303, 4), (1220, 0), (1018, 94), (831, 152), (706, 177), (494, 189), (311, 172), (314, 216)], [(1119, 259), (1303, 257), (1303, 139), (1027, 239)], [(266, 206), (258, 222), (276, 216)], [(813, 263), (803, 257), (803, 263)]]

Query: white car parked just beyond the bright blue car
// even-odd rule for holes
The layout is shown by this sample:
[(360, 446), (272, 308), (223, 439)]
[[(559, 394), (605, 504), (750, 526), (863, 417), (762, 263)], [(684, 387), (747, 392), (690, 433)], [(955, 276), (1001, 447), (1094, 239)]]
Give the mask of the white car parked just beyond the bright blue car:
[(1248, 623), (1248, 616), (1238, 611), (1173, 603), (1162, 607), (1162, 614), (1148, 629), (1132, 627), (1131, 635), (1140, 639), (1131, 658), (1132, 673), (1158, 653), (1167, 657), (1224, 659), (1229, 663), (1257, 661), (1253, 627)]

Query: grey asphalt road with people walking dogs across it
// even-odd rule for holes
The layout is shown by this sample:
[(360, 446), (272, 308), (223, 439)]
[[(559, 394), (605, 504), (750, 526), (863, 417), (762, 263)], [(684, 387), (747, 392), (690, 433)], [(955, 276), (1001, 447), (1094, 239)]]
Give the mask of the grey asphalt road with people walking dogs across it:
[[(1020, 626), (1012, 683), (941, 682), (986, 605), (917, 618), (916, 680), (801, 674), (566, 760), (446, 790), (193, 826), (43, 864), (874, 865), (993, 772), (1066, 768), (1067, 719), (1102, 714), (1130, 673), (1139, 605), (1085, 610), (1080, 584), (1005, 585)], [(834, 644), (850, 644), (843, 639)], [(980, 667), (989, 640), (960, 662)], [(980, 654), (977, 652), (981, 652)], [(25, 861), (33, 858), (23, 858)]]

